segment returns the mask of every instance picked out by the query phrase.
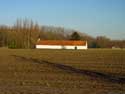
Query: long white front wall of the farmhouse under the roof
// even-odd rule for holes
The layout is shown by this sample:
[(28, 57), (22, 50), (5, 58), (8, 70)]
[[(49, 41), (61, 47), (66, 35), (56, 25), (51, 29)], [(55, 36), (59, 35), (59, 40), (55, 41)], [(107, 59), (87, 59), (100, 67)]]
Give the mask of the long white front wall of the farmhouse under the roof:
[(86, 46), (36, 45), (37, 49), (87, 49)]

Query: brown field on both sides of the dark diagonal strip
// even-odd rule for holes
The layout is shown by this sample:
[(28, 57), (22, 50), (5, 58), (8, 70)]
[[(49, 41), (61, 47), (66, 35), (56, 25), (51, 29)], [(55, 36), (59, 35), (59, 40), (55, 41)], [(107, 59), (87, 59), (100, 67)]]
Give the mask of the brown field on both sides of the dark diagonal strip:
[[(25, 57), (27, 59), (21, 59)], [(107, 94), (125, 93), (125, 84), (96, 79), (39, 64), (48, 61), (108, 75), (125, 77), (125, 50), (36, 50), (0, 49), (2, 94)]]

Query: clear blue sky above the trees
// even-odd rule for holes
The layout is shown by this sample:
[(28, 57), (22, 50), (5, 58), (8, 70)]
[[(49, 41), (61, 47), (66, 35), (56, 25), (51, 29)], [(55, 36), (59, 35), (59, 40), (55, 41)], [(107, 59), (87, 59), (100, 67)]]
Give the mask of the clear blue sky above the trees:
[(0, 0), (0, 24), (17, 19), (125, 39), (125, 0)]

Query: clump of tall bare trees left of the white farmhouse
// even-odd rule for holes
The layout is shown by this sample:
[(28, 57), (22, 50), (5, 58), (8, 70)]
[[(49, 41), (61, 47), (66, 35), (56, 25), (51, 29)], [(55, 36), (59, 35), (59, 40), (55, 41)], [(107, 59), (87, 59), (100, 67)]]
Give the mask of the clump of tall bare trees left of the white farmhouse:
[(17, 20), (14, 26), (14, 40), (17, 48), (34, 48), (39, 36), (39, 25), (32, 20)]

